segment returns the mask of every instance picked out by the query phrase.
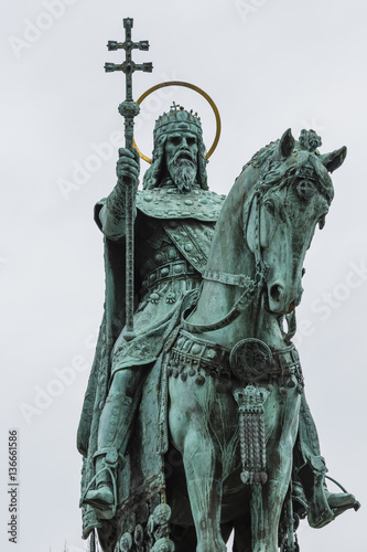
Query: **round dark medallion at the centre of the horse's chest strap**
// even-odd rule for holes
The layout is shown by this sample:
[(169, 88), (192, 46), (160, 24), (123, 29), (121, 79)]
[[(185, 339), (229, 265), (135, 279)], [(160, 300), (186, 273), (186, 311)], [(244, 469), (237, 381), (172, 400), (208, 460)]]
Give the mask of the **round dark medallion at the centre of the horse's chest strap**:
[(229, 355), (234, 375), (247, 383), (268, 380), (272, 363), (270, 348), (256, 338), (241, 339), (234, 346)]

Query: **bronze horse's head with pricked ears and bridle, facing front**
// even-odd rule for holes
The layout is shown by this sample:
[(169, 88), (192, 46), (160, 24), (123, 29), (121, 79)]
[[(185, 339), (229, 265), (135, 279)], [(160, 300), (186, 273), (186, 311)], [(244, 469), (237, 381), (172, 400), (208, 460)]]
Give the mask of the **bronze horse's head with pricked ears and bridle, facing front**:
[(319, 146), (314, 130), (295, 141), (289, 129), (249, 162), (257, 179), (244, 203), (245, 240), (265, 277), (265, 306), (277, 315), (301, 301), (304, 257), (334, 195), (328, 172), (346, 157), (345, 147), (320, 155)]

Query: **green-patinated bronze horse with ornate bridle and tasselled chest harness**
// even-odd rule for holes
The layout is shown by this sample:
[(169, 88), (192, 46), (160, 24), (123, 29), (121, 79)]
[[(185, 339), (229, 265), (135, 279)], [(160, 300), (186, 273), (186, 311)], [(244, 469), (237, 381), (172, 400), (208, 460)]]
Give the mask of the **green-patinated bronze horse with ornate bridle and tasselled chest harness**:
[(169, 427), (187, 486), (187, 503), (169, 492), (171, 523), (188, 524), (182, 511), (192, 512), (196, 552), (225, 552), (228, 528), (238, 552), (279, 550), (303, 392), (294, 308), (333, 198), (327, 171), (346, 155), (321, 156), (317, 138), (303, 132), (295, 144), (288, 130), (244, 167), (171, 349)]

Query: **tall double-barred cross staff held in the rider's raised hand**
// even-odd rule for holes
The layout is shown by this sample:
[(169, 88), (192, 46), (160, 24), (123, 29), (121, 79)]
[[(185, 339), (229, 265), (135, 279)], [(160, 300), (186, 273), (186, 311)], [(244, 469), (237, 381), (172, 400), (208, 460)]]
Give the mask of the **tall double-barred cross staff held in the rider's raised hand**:
[[(126, 99), (119, 105), (119, 113), (125, 118), (125, 147), (132, 150), (133, 141), (133, 118), (139, 114), (140, 107), (132, 99), (132, 73), (134, 71), (144, 71), (151, 73), (153, 65), (151, 63), (137, 64), (131, 60), (133, 49), (149, 50), (148, 40), (132, 42), (131, 29), (133, 20), (123, 19), (125, 42), (108, 41), (108, 50), (123, 49), (126, 61), (120, 65), (116, 63), (106, 63), (105, 71), (122, 71), (126, 75)], [(134, 338), (133, 331), (133, 203), (134, 190), (130, 179), (123, 179), (126, 183), (126, 331), (123, 337), (127, 341)]]

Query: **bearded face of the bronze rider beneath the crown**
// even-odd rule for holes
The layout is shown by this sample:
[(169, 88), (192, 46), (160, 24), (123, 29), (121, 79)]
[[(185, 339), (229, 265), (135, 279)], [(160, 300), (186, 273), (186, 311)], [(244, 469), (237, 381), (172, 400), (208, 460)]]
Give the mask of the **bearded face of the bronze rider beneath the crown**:
[(188, 192), (196, 182), (197, 151), (197, 138), (192, 132), (174, 132), (166, 139), (166, 167), (180, 192)]

